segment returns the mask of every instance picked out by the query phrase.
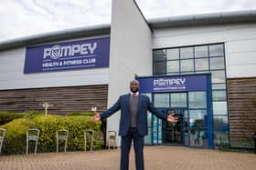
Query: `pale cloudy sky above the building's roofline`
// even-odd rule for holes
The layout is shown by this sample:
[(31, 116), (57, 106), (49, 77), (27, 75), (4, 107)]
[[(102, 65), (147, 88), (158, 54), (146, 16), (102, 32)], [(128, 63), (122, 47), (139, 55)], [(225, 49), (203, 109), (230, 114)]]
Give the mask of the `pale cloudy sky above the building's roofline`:
[[(146, 19), (256, 9), (255, 0), (136, 0)], [(0, 42), (111, 23), (112, 0), (0, 0)]]

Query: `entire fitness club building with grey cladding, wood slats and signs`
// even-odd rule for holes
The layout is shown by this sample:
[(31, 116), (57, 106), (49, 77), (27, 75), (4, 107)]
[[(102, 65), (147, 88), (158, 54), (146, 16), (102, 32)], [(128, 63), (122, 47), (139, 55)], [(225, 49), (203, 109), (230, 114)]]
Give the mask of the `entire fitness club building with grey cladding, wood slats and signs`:
[[(141, 93), (180, 121), (148, 115), (146, 145), (214, 148), (256, 131), (256, 11), (146, 21), (134, 1), (112, 1), (112, 24), (0, 43), (0, 111), (105, 110)], [(119, 114), (107, 120), (118, 131)], [(120, 141), (119, 141), (120, 144)]]

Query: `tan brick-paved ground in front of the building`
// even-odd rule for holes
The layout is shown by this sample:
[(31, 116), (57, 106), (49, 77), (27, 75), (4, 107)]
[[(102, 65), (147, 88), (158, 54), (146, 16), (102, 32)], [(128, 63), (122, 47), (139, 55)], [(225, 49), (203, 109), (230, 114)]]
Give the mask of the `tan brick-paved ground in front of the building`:
[[(118, 170), (120, 150), (93, 153), (68, 152), (2, 155), (0, 169), (16, 170)], [(130, 170), (134, 168), (133, 150)], [(254, 170), (256, 155), (176, 146), (145, 146), (145, 170)]]

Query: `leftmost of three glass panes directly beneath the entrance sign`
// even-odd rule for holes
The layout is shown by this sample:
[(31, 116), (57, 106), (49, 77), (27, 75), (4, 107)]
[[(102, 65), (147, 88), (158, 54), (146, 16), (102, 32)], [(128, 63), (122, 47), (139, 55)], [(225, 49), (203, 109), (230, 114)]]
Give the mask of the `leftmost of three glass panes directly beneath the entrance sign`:
[(154, 94), (155, 107), (169, 107), (170, 96), (169, 94)]

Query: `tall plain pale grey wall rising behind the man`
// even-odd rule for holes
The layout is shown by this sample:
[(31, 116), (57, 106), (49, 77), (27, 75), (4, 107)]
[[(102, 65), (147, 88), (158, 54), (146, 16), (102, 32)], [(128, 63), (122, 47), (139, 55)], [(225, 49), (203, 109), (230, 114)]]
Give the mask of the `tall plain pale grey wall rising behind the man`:
[[(133, 0), (112, 1), (110, 63), (109, 106), (129, 93), (135, 75), (152, 74), (152, 32)], [(118, 132), (119, 119), (108, 118), (107, 130)]]

